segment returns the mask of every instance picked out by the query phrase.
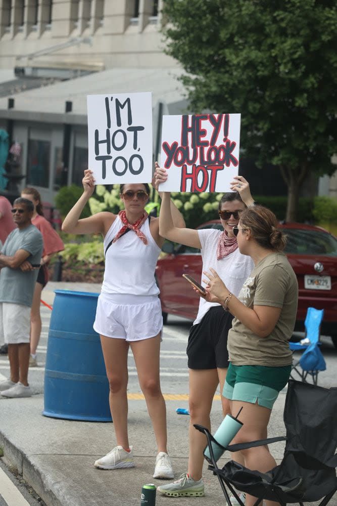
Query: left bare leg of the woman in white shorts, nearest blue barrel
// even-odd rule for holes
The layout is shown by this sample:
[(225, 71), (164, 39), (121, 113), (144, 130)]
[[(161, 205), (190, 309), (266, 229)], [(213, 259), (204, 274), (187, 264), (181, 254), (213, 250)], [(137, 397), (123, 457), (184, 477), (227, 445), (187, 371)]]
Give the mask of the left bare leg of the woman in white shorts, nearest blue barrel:
[(109, 403), (114, 421), (117, 445), (129, 448), (127, 433), (127, 352), (128, 343), (124, 339), (107, 338), (101, 335), (105, 367), (110, 384)]

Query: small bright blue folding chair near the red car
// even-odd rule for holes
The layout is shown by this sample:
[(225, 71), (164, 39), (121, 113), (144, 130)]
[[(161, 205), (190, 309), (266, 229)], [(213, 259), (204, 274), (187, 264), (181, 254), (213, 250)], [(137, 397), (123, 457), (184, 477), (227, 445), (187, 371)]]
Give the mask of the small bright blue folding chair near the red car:
[[(317, 385), (318, 372), (326, 369), (324, 358), (319, 350), (320, 328), (323, 319), (324, 309), (308, 308), (305, 318), (305, 340), (306, 343), (289, 343), (290, 349), (294, 351), (303, 351), (304, 359), (293, 358), (293, 367), (291, 378), (296, 379), (294, 374), (298, 374), (302, 382), (307, 381), (308, 375), (311, 376), (314, 385)], [(310, 349), (309, 349), (310, 348)]]

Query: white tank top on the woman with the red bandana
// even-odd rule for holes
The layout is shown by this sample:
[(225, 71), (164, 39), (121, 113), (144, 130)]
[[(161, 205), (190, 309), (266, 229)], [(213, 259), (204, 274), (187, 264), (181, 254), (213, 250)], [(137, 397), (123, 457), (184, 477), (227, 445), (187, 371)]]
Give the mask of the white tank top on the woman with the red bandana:
[[(104, 238), (104, 251), (123, 227), (119, 216)], [(102, 293), (154, 296), (159, 294), (155, 281), (155, 269), (160, 247), (150, 232), (149, 220), (140, 227), (148, 244), (129, 230), (109, 247), (105, 259)]]

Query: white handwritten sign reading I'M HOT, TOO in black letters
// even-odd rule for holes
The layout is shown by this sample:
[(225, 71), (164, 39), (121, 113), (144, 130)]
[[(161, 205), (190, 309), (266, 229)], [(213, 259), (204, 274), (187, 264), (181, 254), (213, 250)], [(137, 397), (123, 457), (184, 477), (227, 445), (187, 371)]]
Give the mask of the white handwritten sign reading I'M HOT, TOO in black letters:
[(88, 167), (96, 184), (152, 179), (152, 95), (88, 95)]

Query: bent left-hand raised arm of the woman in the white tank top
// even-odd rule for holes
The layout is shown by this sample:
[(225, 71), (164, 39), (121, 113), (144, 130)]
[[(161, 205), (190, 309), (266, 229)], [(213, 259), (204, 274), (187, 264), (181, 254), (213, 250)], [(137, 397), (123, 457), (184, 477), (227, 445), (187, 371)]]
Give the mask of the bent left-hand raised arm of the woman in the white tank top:
[(79, 219), (85, 204), (95, 189), (92, 171), (84, 171), (82, 179), (83, 193), (76, 204), (70, 209), (62, 223), (62, 230), (69, 234), (99, 234), (105, 235), (115, 219), (112, 213), (98, 213), (89, 218)]

